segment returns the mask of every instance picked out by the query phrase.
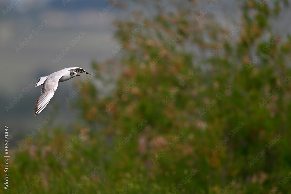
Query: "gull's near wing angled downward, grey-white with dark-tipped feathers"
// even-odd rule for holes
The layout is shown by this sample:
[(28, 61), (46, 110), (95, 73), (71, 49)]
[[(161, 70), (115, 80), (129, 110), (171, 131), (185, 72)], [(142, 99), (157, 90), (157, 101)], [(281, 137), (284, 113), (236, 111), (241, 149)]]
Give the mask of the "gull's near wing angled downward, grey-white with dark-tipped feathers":
[(62, 76), (63, 75), (47, 77), (47, 79), (43, 82), (41, 88), (42, 95), (36, 101), (36, 106), (34, 107), (34, 115), (38, 115), (47, 106), (49, 101), (54, 96), (54, 92), (58, 88), (58, 80)]

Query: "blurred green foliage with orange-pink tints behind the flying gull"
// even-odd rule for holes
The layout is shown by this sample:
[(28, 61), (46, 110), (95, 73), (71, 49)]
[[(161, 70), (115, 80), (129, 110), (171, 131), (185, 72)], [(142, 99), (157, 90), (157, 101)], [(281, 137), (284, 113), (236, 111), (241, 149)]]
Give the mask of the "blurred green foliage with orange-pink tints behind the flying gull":
[[(270, 23), (280, 13), (278, 2), (262, 8), (242, 2), (241, 22), (230, 30), (212, 10), (197, 21), (195, 1), (171, 1), (162, 9), (159, 2), (144, 3), (143, 11), (117, 20), (119, 42), (139, 22), (146, 25), (117, 59), (92, 63), (99, 73), (72, 103), (80, 110), (73, 131), (46, 126), (13, 152), (8, 193), (28, 191), (35, 175), (42, 178), (29, 193), (74, 193), (82, 181), (77, 193), (224, 193), (229, 181), (235, 184), (228, 193), (269, 193), (276, 187), (277, 193), (291, 193), (290, 182), (280, 182), (291, 171), (291, 88), (283, 81), (290, 73), (291, 38), (275, 35)], [(149, 9), (154, 14), (146, 14)], [(236, 25), (242, 29), (228, 40)], [(182, 38), (174, 45), (177, 35)], [(219, 51), (210, 58), (213, 49)], [(189, 72), (195, 74), (191, 79)], [(104, 88), (113, 83), (109, 96), (101, 96), (97, 80)], [(127, 90), (130, 82), (135, 84)], [(226, 85), (232, 87), (224, 91)], [(148, 122), (138, 131), (143, 119)], [(245, 124), (236, 129), (239, 122)], [(85, 127), (89, 132), (75, 143)], [(185, 135), (177, 138), (179, 133)], [(276, 134), (282, 137), (275, 140)], [(101, 170), (90, 177), (98, 165)], [(198, 172), (189, 176), (192, 169)], [(138, 181), (128, 190), (132, 178)]]

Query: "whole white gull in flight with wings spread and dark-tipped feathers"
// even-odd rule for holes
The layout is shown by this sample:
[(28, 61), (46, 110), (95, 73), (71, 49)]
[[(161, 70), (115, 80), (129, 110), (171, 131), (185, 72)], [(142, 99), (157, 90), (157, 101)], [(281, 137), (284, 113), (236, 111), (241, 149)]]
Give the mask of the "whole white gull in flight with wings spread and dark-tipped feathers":
[(36, 86), (42, 85), (42, 95), (36, 101), (34, 115), (38, 115), (47, 106), (58, 88), (58, 82), (67, 81), (75, 76), (80, 76), (76, 72), (89, 74), (80, 67), (68, 67), (38, 79)]

